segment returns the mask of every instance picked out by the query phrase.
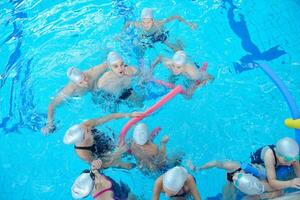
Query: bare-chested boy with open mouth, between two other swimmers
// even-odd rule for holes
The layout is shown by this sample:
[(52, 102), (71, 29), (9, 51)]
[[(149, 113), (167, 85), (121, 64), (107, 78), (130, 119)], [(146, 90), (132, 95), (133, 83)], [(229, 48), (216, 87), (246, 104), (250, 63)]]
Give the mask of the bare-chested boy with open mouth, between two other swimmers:
[(138, 70), (127, 66), (116, 52), (108, 54), (106, 63), (109, 70), (97, 81), (96, 91), (93, 93), (94, 102), (102, 104), (104, 100), (115, 106), (126, 100), (142, 107), (143, 97), (137, 95), (132, 89), (132, 80), (139, 75)]

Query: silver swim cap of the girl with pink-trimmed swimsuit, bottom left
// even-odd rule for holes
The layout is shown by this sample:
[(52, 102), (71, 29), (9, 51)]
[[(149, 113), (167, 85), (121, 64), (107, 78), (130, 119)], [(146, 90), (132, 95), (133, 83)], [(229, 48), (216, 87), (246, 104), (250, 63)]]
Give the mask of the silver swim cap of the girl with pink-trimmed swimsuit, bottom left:
[(78, 176), (72, 185), (72, 197), (81, 199), (87, 197), (94, 188), (94, 180), (88, 170)]

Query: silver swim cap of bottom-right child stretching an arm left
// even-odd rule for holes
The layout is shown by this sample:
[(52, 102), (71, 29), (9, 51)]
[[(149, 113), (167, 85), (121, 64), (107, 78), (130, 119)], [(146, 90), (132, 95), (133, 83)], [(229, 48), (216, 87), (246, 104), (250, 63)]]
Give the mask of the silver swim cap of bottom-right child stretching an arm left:
[(234, 180), (234, 186), (241, 192), (248, 195), (258, 195), (265, 192), (265, 186), (262, 182), (251, 174), (238, 173), (237, 180)]

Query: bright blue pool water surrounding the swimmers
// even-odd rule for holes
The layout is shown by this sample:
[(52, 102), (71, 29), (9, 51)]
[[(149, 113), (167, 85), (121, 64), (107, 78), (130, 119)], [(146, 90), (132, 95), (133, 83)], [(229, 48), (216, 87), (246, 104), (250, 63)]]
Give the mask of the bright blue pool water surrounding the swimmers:
[[(197, 30), (175, 22), (167, 25), (171, 41), (180, 39), (189, 56), (209, 63), (215, 81), (192, 100), (177, 96), (145, 120), (170, 136), (169, 153), (184, 151), (184, 160), (202, 164), (210, 159), (247, 161), (250, 152), (294, 137), (283, 120), (288, 106), (274, 83), (257, 68), (266, 61), (300, 105), (300, 3), (297, 0), (4, 0), (0, 2), (0, 199), (71, 199), (70, 187), (87, 165), (64, 145), (73, 124), (102, 116), (90, 95), (74, 99), (56, 112), (58, 130), (44, 137), (50, 99), (67, 82), (70, 66), (87, 69), (111, 50), (137, 64), (128, 36), (114, 40), (125, 21), (139, 17), (144, 7), (155, 18), (181, 15)], [(158, 44), (145, 54), (146, 67), (158, 53), (171, 52)], [(162, 67), (155, 76), (166, 77)], [(146, 107), (156, 100), (146, 102)], [(122, 112), (132, 109), (122, 107)], [(121, 130), (126, 120), (109, 123)], [(154, 177), (137, 169), (110, 169), (115, 179), (150, 199)], [(202, 197), (221, 192), (224, 172), (194, 174)], [(146, 180), (146, 181), (145, 181)]]

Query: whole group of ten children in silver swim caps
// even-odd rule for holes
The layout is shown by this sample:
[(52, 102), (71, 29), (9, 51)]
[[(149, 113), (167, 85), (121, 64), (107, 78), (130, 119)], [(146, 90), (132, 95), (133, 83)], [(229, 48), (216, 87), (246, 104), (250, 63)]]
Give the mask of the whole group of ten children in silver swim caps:
[[(171, 72), (171, 81), (176, 80), (176, 77), (184, 77), (186, 80), (185, 96), (191, 98), (197, 88), (212, 80), (213, 77), (206, 73), (205, 68), (201, 69), (198, 64), (190, 61), (180, 45), (174, 45), (168, 41), (169, 32), (164, 29), (164, 25), (172, 20), (179, 20), (192, 29), (196, 28), (195, 24), (185, 21), (180, 16), (154, 20), (152, 10), (144, 8), (141, 13), (141, 21), (127, 22), (123, 30), (129, 26), (138, 29), (140, 34), (135, 45), (141, 52), (145, 52), (147, 48), (154, 48), (154, 44), (157, 42), (171, 48), (174, 51), (172, 58), (158, 55), (149, 71), (152, 74), (155, 67), (161, 63)], [(107, 59), (102, 64), (86, 71), (71, 67), (67, 71), (67, 76), (70, 82), (49, 104), (48, 122), (42, 129), (44, 134), (55, 130), (54, 111), (58, 105), (70, 97), (90, 92), (93, 94), (94, 102), (98, 104), (109, 102), (111, 105), (117, 105), (121, 102), (131, 102), (135, 106), (143, 106), (145, 96), (135, 91), (134, 84), (136, 78), (143, 80), (142, 82), (146, 84), (145, 73), (141, 68), (137, 69), (127, 65), (116, 52), (108, 53)], [(102, 173), (102, 170), (109, 167), (128, 170), (138, 167), (144, 173), (156, 174), (158, 178), (153, 187), (153, 200), (159, 199), (161, 193), (165, 193), (172, 199), (189, 197), (196, 200), (201, 199), (196, 180), (188, 173), (187, 168), (194, 171), (212, 167), (225, 169), (230, 189), (224, 190), (224, 199), (227, 198), (227, 193), (238, 196), (239, 192), (232, 192), (233, 190), (238, 190), (253, 198), (264, 198), (264, 195), (278, 196), (285, 188), (300, 188), (299, 178), (291, 178), (291, 175), (288, 177), (290, 180), (279, 181), (276, 177), (276, 168), (279, 166), (292, 166), (295, 172), (294, 176), (300, 177), (299, 147), (290, 138), (283, 138), (276, 145), (259, 149), (253, 154), (251, 164), (235, 161), (211, 161), (202, 167), (195, 167), (191, 162), (187, 167), (183, 167), (182, 155), (170, 156), (166, 153), (168, 136), (162, 137), (160, 146), (153, 142), (159, 128), (150, 132), (146, 124), (137, 124), (132, 140), (120, 146), (113, 138), (96, 128), (115, 119), (142, 115), (138, 112), (113, 113), (84, 121), (67, 130), (64, 143), (73, 144), (76, 154), (90, 165), (90, 169), (84, 170), (72, 186), (74, 198), (92, 195), (94, 199), (102, 200), (136, 199), (137, 197), (130, 192), (130, 188), (125, 183), (117, 183)], [(125, 154), (133, 156), (136, 162), (123, 161)], [(236, 197), (230, 196), (227, 199), (234, 198)]]

